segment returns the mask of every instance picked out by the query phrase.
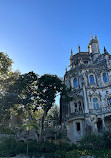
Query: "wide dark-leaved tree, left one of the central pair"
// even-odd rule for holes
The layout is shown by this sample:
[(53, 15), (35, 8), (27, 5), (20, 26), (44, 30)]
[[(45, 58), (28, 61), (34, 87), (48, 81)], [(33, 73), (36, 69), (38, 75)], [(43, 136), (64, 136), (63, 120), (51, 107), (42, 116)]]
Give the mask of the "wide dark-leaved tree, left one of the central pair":
[[(33, 72), (29, 72), (20, 75), (16, 81), (9, 86), (8, 91), (2, 98), (4, 105), (8, 105), (9, 108), (16, 107), (16, 110), (22, 109), (27, 112), (28, 119), (33, 122), (31, 115), (31, 109), (34, 107), (35, 100), (33, 99), (33, 93), (36, 91), (36, 82), (38, 75)], [(37, 134), (34, 132), (36, 140), (38, 140)]]

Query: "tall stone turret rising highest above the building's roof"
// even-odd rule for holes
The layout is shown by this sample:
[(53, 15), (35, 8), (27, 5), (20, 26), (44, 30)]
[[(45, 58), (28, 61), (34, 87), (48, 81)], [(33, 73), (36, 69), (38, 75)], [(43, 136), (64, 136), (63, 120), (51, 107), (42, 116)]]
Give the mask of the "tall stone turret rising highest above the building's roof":
[(95, 61), (98, 58), (98, 56), (100, 55), (97, 36), (95, 36), (95, 38), (93, 38), (93, 36), (91, 35), (91, 40), (89, 42), (88, 49), (89, 49), (89, 53), (92, 54), (93, 61)]

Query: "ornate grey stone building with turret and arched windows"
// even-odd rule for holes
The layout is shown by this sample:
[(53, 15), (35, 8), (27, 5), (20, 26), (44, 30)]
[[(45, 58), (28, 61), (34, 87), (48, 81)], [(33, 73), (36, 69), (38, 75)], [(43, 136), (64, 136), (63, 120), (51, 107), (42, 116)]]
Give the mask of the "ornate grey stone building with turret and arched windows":
[(64, 75), (70, 102), (61, 97), (61, 121), (71, 142), (86, 133), (111, 130), (111, 55), (99, 50), (97, 36), (91, 37), (88, 52), (70, 55), (70, 70)]

